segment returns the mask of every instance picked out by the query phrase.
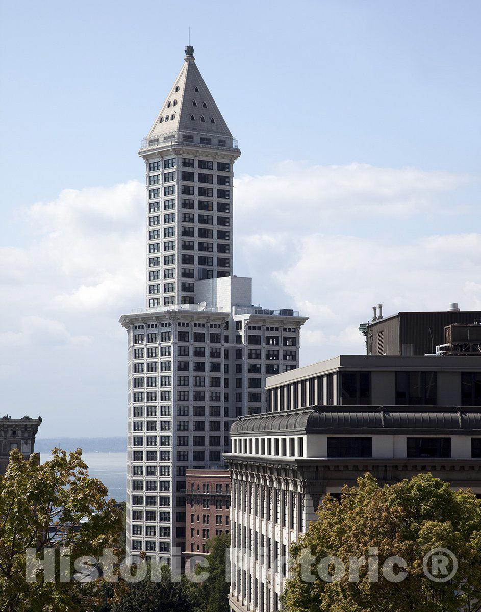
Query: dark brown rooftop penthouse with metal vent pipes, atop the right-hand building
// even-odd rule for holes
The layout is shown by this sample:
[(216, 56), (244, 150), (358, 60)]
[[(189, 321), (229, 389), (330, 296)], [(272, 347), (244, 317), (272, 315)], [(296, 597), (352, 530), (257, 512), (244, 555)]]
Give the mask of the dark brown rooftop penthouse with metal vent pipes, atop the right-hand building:
[[(378, 310), (379, 308), (379, 310)], [(444, 344), (444, 328), (449, 325), (481, 324), (481, 311), (460, 310), (450, 304), (448, 310), (434, 312), (398, 312), (382, 316), (382, 304), (373, 306), (373, 318), (361, 323), (368, 355), (412, 357), (433, 354)]]

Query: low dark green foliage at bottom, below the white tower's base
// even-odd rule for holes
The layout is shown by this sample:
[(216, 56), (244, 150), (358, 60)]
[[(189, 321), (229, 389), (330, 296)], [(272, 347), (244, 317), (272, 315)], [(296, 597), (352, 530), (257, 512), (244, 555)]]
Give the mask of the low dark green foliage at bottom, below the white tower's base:
[(201, 603), (200, 589), (185, 576), (178, 582), (171, 580), (170, 569), (163, 565), (160, 580), (147, 577), (129, 584), (125, 594), (111, 607), (111, 612), (193, 612)]

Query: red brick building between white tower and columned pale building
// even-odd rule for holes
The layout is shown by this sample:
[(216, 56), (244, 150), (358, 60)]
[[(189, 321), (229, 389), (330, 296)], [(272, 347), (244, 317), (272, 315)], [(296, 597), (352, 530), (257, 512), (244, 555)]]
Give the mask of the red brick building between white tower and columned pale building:
[(206, 542), (230, 532), (231, 479), (226, 469), (188, 469), (185, 474), (185, 555), (207, 554)]

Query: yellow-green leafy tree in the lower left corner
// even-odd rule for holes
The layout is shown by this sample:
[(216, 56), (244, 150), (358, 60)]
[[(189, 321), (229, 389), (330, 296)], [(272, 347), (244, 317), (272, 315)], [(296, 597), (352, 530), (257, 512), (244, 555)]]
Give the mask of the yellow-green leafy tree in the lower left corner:
[[(53, 449), (39, 465), (32, 455), (24, 460), (10, 453), (6, 474), (0, 477), (0, 610), (2, 612), (75, 612), (93, 609), (99, 584), (69, 580), (80, 556), (102, 556), (113, 548), (121, 529), (121, 511), (106, 501), (106, 487), (88, 476), (81, 450)], [(68, 548), (60, 575), (59, 553)], [(26, 581), (26, 549), (44, 559), (55, 548), (55, 577)], [(64, 551), (67, 553), (67, 551)], [(62, 579), (62, 581), (61, 581)], [(35, 577), (34, 577), (35, 580)], [(86, 605), (89, 607), (86, 608)]]

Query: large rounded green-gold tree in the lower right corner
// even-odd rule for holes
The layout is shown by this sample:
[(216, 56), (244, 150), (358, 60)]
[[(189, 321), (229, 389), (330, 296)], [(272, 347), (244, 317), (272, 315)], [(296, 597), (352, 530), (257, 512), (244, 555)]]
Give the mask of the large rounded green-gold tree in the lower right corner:
[[(283, 594), (286, 612), (479, 612), (481, 500), (469, 490), (450, 490), (431, 474), (386, 487), (366, 474), (357, 485), (343, 488), (340, 503), (327, 496), (318, 520), (291, 548), (294, 566)], [(452, 551), (458, 563), (455, 575), (442, 583), (430, 580), (423, 570), (423, 558), (438, 547)], [(306, 580), (305, 569), (302, 578), (303, 549), (315, 557), (313, 582)], [(349, 557), (355, 566), (354, 559), (368, 559), (369, 553), (370, 561), (359, 564), (358, 581), (349, 578)], [(393, 556), (406, 567), (400, 559), (384, 565)], [(329, 557), (340, 559), (346, 572), (342, 574), (340, 562), (329, 563)], [(309, 566), (305, 559), (304, 553), (304, 568)], [(321, 580), (314, 563), (321, 563), (323, 578), (329, 580), (329, 571), (335, 581)], [(433, 557), (426, 568), (444, 579), (454, 565), (450, 561), (442, 570)]]

